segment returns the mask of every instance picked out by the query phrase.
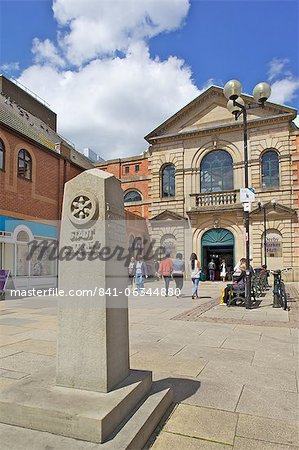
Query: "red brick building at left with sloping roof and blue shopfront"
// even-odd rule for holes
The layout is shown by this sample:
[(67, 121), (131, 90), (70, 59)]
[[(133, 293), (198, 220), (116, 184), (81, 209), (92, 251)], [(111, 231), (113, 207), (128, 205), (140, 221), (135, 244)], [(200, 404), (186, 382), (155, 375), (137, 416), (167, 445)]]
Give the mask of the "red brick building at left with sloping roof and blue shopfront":
[(28, 242), (57, 238), (64, 183), (93, 165), (40, 99), (4, 76), (0, 88), (0, 268), (16, 287), (55, 286), (57, 263), (27, 261)]

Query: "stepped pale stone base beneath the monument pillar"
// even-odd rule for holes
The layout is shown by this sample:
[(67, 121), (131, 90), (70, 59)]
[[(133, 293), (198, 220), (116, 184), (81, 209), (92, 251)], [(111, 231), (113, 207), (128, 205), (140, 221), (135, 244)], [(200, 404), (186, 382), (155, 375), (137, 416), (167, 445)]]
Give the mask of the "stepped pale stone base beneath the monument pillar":
[(95, 443), (111, 439), (103, 448), (141, 448), (172, 402), (170, 389), (151, 388), (151, 372), (137, 370), (108, 393), (60, 387), (53, 367), (1, 392), (0, 422)]

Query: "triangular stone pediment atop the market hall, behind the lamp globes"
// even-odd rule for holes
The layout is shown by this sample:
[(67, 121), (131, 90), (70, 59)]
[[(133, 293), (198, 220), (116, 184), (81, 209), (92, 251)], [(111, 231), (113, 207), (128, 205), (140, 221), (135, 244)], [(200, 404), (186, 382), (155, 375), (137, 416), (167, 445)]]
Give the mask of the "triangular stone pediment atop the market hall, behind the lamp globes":
[[(246, 103), (254, 103), (253, 97), (249, 95), (242, 95), (242, 98)], [(183, 135), (193, 131), (234, 125), (236, 124), (235, 118), (228, 112), (226, 105), (227, 99), (223, 95), (223, 89), (218, 86), (211, 86), (149, 133), (145, 139), (150, 142), (157, 137)], [(295, 118), (296, 110), (267, 102), (264, 108), (249, 110), (248, 121), (286, 115), (289, 115), (290, 119), (292, 115)]]

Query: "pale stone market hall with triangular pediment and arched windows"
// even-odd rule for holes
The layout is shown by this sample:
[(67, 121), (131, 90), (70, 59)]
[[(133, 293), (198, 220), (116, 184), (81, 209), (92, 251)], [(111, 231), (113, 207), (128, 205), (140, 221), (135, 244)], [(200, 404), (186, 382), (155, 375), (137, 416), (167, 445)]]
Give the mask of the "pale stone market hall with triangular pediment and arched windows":
[[(251, 96), (242, 97), (254, 103)], [(147, 219), (156, 246), (172, 256), (182, 252), (185, 259), (194, 251), (204, 270), (211, 259), (218, 267), (225, 259), (232, 270), (245, 256), (239, 197), (245, 186), (243, 127), (226, 103), (223, 90), (212, 86), (150, 132), (143, 155), (97, 164), (120, 178), (126, 209)], [(252, 264), (264, 262), (260, 201), (266, 207), (268, 267), (293, 267), (289, 280), (299, 278), (296, 115), (295, 109), (271, 102), (248, 111), (249, 184), (256, 192), (250, 214)]]

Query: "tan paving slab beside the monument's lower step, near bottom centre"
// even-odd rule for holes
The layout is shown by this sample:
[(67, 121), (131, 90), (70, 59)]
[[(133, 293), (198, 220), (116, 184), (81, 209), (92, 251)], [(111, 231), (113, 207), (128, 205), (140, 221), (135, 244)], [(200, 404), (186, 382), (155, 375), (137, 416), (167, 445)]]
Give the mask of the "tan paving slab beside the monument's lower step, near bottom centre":
[(238, 415), (227, 411), (180, 404), (164, 426), (164, 431), (233, 444)]

